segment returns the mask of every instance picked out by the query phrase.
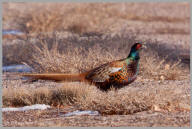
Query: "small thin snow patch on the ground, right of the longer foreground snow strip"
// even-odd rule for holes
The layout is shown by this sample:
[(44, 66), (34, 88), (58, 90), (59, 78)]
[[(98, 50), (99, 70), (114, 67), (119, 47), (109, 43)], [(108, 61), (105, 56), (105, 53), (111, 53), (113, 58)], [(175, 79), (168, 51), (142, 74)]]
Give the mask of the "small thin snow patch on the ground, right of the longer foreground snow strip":
[(79, 111), (79, 110), (76, 110), (74, 112), (69, 112), (69, 113), (66, 113), (64, 115), (61, 115), (61, 116), (64, 116), (64, 117), (69, 117), (69, 116), (80, 116), (80, 115), (99, 115), (99, 112), (98, 111)]

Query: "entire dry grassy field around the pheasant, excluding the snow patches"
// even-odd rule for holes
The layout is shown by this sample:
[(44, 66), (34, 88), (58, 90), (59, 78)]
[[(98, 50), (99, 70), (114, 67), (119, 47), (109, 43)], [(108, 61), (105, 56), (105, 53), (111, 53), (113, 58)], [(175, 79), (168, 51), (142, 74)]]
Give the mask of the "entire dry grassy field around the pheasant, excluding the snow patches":
[[(3, 65), (34, 72), (80, 73), (125, 58), (144, 42), (135, 82), (102, 92), (84, 83), (26, 82), (3, 73), (3, 126), (190, 126), (190, 13), (180, 3), (4, 3)], [(38, 11), (37, 11), (38, 10)], [(99, 116), (61, 117), (74, 110)]]

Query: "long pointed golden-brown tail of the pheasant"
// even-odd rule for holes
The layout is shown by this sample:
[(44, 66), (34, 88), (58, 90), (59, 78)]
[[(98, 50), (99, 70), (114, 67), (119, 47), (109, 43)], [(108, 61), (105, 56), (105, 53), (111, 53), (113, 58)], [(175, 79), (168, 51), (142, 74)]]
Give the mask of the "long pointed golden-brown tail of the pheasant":
[(86, 73), (82, 74), (22, 74), (23, 77), (29, 77), (33, 80), (52, 80), (56, 82), (86, 81)]

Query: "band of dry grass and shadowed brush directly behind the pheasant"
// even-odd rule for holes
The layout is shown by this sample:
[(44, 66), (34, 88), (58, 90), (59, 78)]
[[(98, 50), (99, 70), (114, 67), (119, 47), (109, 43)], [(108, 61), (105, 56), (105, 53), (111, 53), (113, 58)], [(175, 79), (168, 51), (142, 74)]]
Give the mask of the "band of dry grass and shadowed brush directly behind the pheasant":
[[(6, 65), (25, 62), (36, 72), (80, 73), (125, 58), (133, 43), (143, 42), (131, 34), (121, 37), (103, 34), (103, 38), (74, 34), (71, 38), (64, 38), (62, 34), (42, 34), (27, 41), (21, 40), (23, 43), (16, 41), (20, 42), (17, 45), (4, 45), (3, 62)], [(169, 48), (158, 41), (144, 42), (148, 48), (140, 54), (139, 74), (142, 78), (178, 80), (186, 76), (187, 69), (179, 59), (180, 46)]]

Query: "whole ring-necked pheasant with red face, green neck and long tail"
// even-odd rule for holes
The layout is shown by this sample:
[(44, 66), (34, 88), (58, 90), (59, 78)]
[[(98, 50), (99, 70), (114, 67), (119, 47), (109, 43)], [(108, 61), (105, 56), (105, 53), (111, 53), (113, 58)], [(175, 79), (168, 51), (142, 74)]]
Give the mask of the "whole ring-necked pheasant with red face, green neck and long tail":
[(120, 88), (133, 82), (139, 70), (139, 51), (145, 47), (135, 43), (127, 58), (103, 64), (95, 69), (80, 74), (22, 74), (32, 79), (53, 80), (56, 82), (81, 81), (95, 84), (101, 90), (112, 86)]

